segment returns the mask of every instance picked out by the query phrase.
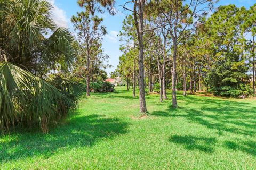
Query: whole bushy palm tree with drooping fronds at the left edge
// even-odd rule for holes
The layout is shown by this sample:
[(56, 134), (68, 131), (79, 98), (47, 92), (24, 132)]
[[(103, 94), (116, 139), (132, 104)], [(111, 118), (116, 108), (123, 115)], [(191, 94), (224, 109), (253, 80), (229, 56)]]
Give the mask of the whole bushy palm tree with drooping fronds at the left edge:
[(57, 65), (71, 66), (74, 39), (57, 28), (45, 0), (0, 1), (0, 6), (0, 129), (39, 124), (47, 132), (82, 94), (71, 80), (53, 78), (56, 87), (44, 80)]

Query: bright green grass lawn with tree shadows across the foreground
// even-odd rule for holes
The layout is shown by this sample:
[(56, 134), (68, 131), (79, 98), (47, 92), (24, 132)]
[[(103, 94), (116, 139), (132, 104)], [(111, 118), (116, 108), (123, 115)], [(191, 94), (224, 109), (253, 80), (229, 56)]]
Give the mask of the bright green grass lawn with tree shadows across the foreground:
[(48, 134), (0, 137), (0, 169), (256, 169), (255, 100), (177, 98), (172, 109), (147, 95), (139, 118), (124, 87), (92, 94)]

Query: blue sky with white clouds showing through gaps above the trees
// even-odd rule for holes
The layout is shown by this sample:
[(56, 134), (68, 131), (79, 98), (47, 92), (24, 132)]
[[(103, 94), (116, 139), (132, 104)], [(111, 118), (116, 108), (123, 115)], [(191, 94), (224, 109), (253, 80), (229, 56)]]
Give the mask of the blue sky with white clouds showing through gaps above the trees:
[[(76, 12), (82, 11), (83, 9), (77, 5), (76, 0), (47, 0), (53, 4), (54, 9), (52, 11), (52, 16), (54, 21), (60, 27), (67, 27), (70, 30), (73, 29), (73, 25), (70, 22), (71, 16), (75, 15)], [(123, 5), (126, 0), (118, 0), (115, 5), (116, 10), (118, 11), (115, 16), (111, 16), (108, 12), (101, 14), (100, 16), (103, 18), (103, 25), (106, 26), (108, 35), (103, 38), (102, 45), (105, 51), (105, 54), (109, 55), (109, 64), (113, 65), (113, 67), (106, 69), (109, 73), (115, 70), (115, 67), (118, 64), (119, 56), (122, 53), (119, 51), (119, 46), (121, 42), (119, 42), (119, 38), (117, 37), (117, 33), (122, 29), (122, 22), (126, 15), (131, 14), (131, 12), (123, 11), (122, 7), (119, 5)], [(228, 5), (235, 4), (237, 7), (245, 6), (249, 8), (256, 0), (219, 0), (215, 7), (219, 5)]]

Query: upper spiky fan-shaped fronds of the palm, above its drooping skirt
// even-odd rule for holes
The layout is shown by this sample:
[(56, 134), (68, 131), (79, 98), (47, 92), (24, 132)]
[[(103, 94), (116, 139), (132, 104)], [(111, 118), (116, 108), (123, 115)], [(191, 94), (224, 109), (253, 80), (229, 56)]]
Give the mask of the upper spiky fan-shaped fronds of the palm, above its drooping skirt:
[(66, 28), (57, 28), (51, 9), (45, 0), (7, 1), (0, 8), (0, 47), (10, 54), (10, 62), (40, 75), (57, 64), (71, 65), (74, 38)]

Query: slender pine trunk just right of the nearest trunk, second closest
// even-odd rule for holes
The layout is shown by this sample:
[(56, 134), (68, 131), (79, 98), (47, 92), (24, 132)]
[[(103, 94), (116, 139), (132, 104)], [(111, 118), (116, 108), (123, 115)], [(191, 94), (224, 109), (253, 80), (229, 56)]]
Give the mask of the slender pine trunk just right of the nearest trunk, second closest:
[(177, 107), (176, 99), (176, 55), (177, 55), (177, 39), (173, 39), (173, 60), (172, 60), (172, 107)]

